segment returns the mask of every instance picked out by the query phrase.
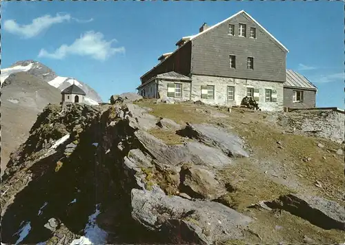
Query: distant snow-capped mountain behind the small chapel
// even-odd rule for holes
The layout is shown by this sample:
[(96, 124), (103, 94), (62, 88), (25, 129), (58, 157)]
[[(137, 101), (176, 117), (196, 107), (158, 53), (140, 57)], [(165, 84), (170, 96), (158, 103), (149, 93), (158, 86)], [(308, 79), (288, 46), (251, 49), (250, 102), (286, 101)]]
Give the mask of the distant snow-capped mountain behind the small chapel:
[(73, 82), (86, 92), (86, 103), (101, 102), (97, 92), (85, 83), (57, 76), (49, 67), (37, 61), (18, 61), (1, 69), (1, 175), (6, 169), (10, 153), (28, 138), (28, 131), (37, 119), (37, 114), (48, 103), (60, 103), (61, 90)]

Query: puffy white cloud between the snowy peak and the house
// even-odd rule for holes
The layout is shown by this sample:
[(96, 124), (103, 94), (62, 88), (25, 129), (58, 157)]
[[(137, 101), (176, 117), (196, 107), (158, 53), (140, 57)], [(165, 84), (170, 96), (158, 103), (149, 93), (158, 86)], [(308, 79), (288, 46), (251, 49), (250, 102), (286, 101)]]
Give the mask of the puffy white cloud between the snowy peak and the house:
[(55, 52), (47, 52), (42, 49), (39, 52), (39, 57), (63, 59), (68, 54), (75, 54), (79, 56), (90, 56), (98, 61), (105, 61), (110, 56), (117, 53), (124, 53), (124, 47), (112, 47), (112, 43), (116, 40), (104, 40), (101, 32), (89, 31), (82, 34), (79, 39), (76, 39), (71, 45), (63, 44)]

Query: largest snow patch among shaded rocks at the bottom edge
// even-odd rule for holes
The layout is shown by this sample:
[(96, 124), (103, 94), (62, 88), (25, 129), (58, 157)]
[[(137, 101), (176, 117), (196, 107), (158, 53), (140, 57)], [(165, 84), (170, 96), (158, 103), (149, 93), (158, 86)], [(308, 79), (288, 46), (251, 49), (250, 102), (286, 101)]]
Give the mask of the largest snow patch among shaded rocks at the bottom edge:
[(99, 204), (96, 205), (95, 213), (88, 217), (88, 224), (84, 228), (85, 235), (74, 239), (70, 245), (81, 244), (106, 244), (108, 233), (99, 228), (96, 224), (96, 217), (101, 213), (99, 211)]

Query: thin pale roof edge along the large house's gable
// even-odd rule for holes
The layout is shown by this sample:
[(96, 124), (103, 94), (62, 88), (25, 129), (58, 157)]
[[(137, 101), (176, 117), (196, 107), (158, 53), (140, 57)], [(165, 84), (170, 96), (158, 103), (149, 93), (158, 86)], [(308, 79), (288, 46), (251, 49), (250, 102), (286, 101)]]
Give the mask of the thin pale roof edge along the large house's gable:
[[(216, 28), (217, 26), (221, 25), (222, 23), (225, 23), (226, 21), (229, 21), (230, 19), (233, 19), (234, 17), (237, 17), (237, 15), (242, 14), (242, 13), (245, 13), (252, 21), (254, 21), (257, 25), (259, 25), (259, 27), (262, 28), (262, 30), (264, 30), (272, 39), (274, 39), (277, 43), (279, 43), (279, 45), (281, 45), (282, 48), (284, 50), (286, 50), (286, 52), (288, 52), (288, 49), (282, 43), (280, 43), (272, 34), (270, 34), (270, 32), (268, 32), (268, 30), (266, 30), (262, 25), (260, 25), (259, 22), (255, 21), (255, 19), (253, 17), (251, 17), (250, 14), (248, 14), (246, 11), (241, 10), (241, 11), (237, 12), (236, 14), (233, 14), (232, 16), (228, 17), (228, 19), (224, 19), (224, 21), (221, 21), (221, 22), (219, 22), (219, 23), (217, 23), (215, 25), (210, 26), (210, 28), (204, 30), (204, 32), (199, 32), (198, 34), (195, 34), (195, 35), (192, 35), (192, 36), (185, 36), (185, 38), (188, 38), (188, 39), (186, 39), (186, 42), (183, 45), (177, 47), (177, 49), (174, 52), (172, 52), (172, 54), (175, 54), (179, 49), (181, 49), (181, 47), (184, 47), (184, 45), (186, 45), (186, 43), (188, 43), (189, 41), (192, 41), (193, 39), (196, 39), (198, 36), (201, 36), (202, 34), (205, 34), (206, 32), (209, 32), (210, 30), (213, 30), (213, 28)], [(177, 42), (177, 43), (179, 43), (179, 42)], [(170, 56), (172, 56), (172, 54), (170, 54)], [(166, 61), (166, 60), (167, 60), (167, 58), (164, 59), (164, 61)], [(164, 61), (161, 61), (161, 63), (164, 63)], [(146, 72), (140, 78), (143, 78), (146, 74), (150, 73), (156, 67), (161, 65), (161, 63), (159, 63), (159, 64), (155, 65), (154, 67), (152, 67), (151, 70)]]

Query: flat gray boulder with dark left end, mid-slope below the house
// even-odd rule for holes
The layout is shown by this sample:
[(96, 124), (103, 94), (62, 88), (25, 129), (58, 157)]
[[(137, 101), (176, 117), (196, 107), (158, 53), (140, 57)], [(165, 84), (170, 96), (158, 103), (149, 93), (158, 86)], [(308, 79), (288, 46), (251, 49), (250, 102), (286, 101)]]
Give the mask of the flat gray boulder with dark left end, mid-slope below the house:
[(244, 142), (235, 134), (220, 127), (212, 125), (192, 125), (187, 123), (182, 133), (190, 138), (195, 138), (204, 144), (221, 149), (229, 157), (248, 157), (244, 150)]

